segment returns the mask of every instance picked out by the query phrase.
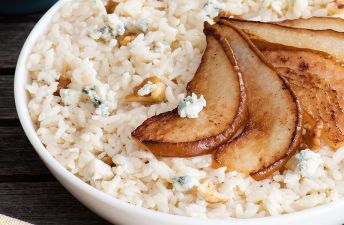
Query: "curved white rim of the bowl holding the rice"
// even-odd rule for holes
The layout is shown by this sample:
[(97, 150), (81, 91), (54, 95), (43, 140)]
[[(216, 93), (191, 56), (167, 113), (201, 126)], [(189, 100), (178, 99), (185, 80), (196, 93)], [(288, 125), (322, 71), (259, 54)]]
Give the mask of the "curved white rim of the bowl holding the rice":
[[(43, 17), (38, 21), (35, 27), (30, 32), (29, 36), (27, 37), (22, 50), (20, 52), (16, 70), (15, 70), (15, 78), (14, 78), (14, 97), (15, 97), (15, 106), (18, 114), (18, 118), (20, 120), (21, 126), (29, 139), (30, 143), (34, 147), (36, 153), (39, 155), (41, 160), (48, 166), (48, 169), (53, 172), (53, 175), (56, 177), (56, 174), (67, 179), (70, 183), (72, 183), (77, 189), (83, 190), (88, 195), (91, 195), (93, 198), (97, 199), (100, 202), (105, 202), (108, 205), (111, 205), (114, 208), (121, 208), (123, 211), (130, 211), (135, 213), (136, 215), (140, 215), (146, 218), (151, 219), (160, 219), (161, 222), (164, 221), (175, 221), (176, 223), (186, 224), (186, 223), (194, 223), (194, 224), (203, 224), (205, 222), (211, 223), (214, 225), (224, 225), (228, 224), (229, 221), (232, 223), (240, 222), (240, 224), (252, 224), (252, 223), (277, 223), (281, 220), (297, 220), (298, 218), (304, 217), (312, 217), (313, 215), (317, 215), (319, 213), (326, 213), (331, 211), (336, 207), (344, 207), (344, 199), (339, 199), (331, 203), (327, 203), (324, 205), (316, 206), (313, 208), (292, 212), (288, 214), (276, 215), (276, 216), (267, 216), (262, 218), (250, 218), (250, 219), (240, 219), (240, 218), (226, 218), (226, 219), (202, 219), (202, 218), (193, 218), (187, 216), (180, 216), (180, 215), (173, 215), (168, 213), (163, 213), (159, 211), (154, 211), (151, 209), (146, 209), (140, 206), (136, 206), (120, 199), (115, 198), (109, 194), (106, 194), (95, 187), (85, 183), (71, 172), (69, 172), (65, 167), (63, 167), (44, 147), (42, 142), (39, 140), (36, 130), (33, 126), (29, 111), (28, 111), (28, 93), (26, 91), (25, 86), (28, 84), (29, 81), (28, 71), (26, 69), (26, 62), (28, 56), (31, 53), (32, 48), (34, 47), (35, 43), (37, 42), (39, 36), (45, 33), (47, 26), (50, 24), (52, 17), (54, 14), (61, 8), (63, 4), (69, 2), (71, 0), (60, 0), (57, 1), (53, 7), (51, 7)], [(25, 75), (26, 77), (21, 78), (21, 76)], [(55, 174), (55, 173), (56, 174)], [(60, 181), (59, 181), (60, 182)], [(60, 182), (61, 183), (61, 182)], [(62, 186), (65, 187), (64, 184)], [(69, 191), (69, 190), (68, 190)], [(78, 199), (80, 201), (80, 199)], [(82, 201), (81, 201), (82, 202)], [(83, 203), (83, 202), (82, 202)], [(83, 203), (84, 204), (84, 203)], [(91, 209), (92, 210), (92, 209)], [(94, 211), (94, 210), (93, 210)], [(98, 214), (98, 213), (97, 213)], [(99, 215), (99, 214), (98, 214)]]

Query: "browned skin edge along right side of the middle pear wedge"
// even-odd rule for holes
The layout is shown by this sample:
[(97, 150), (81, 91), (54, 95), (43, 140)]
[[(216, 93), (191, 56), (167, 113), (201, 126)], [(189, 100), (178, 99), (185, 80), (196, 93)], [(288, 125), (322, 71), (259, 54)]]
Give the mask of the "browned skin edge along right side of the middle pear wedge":
[[(264, 55), (251, 42), (250, 38), (244, 33), (244, 31), (242, 31), (240, 28), (227, 22), (224, 19), (216, 19), (216, 22), (219, 24), (222, 24), (222, 25), (230, 26), (248, 43), (250, 48), (256, 53), (256, 55), (262, 60), (262, 62), (264, 64), (266, 64), (267, 66), (269, 66), (271, 69), (273, 69), (276, 72), (276, 74), (279, 75), (279, 78), (283, 81), (284, 85), (286, 86), (286, 88), (291, 93), (291, 95), (294, 99), (294, 102), (296, 103), (298, 116), (297, 116), (297, 121), (295, 124), (295, 130), (293, 133), (293, 138), (292, 138), (292, 141), (289, 145), (288, 150), (285, 152), (285, 154), (281, 158), (276, 160), (273, 164), (271, 164), (267, 167), (263, 167), (260, 170), (255, 171), (255, 172), (250, 174), (255, 180), (263, 180), (263, 179), (269, 177), (270, 175), (272, 175), (275, 171), (282, 169), (284, 167), (284, 165), (288, 162), (288, 160), (297, 152), (298, 146), (299, 146), (301, 138), (302, 138), (303, 110), (301, 108), (300, 101), (296, 97), (296, 94), (294, 93), (294, 91), (291, 89), (289, 82), (286, 79), (284, 79), (282, 76), (280, 76), (280, 74), (276, 71), (276, 69), (272, 66), (272, 64), (265, 59)], [(220, 36), (218, 33), (216, 33), (216, 30), (214, 30), (214, 28), (212, 26), (207, 25), (206, 29), (213, 30), (215, 33), (215, 36)], [(240, 138), (240, 135), (236, 138)], [(216, 151), (214, 153), (213, 158), (215, 161), (217, 158), (217, 154), (218, 154), (218, 151)]]

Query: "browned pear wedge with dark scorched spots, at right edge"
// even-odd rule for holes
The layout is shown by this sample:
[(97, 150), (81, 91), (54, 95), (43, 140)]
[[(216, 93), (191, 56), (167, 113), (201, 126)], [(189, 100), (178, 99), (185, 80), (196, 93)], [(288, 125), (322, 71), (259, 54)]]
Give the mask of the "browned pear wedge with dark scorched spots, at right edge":
[(344, 66), (330, 55), (253, 40), (291, 84), (308, 114), (309, 124), (322, 123), (322, 137), (337, 149), (344, 145)]

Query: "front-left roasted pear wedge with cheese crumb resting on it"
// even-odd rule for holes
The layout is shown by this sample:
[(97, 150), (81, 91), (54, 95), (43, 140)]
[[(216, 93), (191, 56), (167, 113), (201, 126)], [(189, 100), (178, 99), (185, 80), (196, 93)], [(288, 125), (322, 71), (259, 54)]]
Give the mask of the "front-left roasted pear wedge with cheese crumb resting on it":
[(197, 119), (180, 118), (177, 109), (147, 119), (132, 137), (159, 157), (210, 153), (228, 141), (247, 120), (245, 86), (233, 55), (223, 40), (206, 35), (202, 62), (187, 85), (187, 94), (203, 95), (207, 106)]

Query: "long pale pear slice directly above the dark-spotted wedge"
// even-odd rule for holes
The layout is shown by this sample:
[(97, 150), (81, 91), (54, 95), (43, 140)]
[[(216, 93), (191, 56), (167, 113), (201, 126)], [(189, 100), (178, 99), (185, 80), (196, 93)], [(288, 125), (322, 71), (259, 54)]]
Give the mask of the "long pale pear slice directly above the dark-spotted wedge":
[(220, 23), (231, 23), (251, 39), (262, 39), (271, 43), (297, 48), (308, 48), (326, 52), (344, 60), (344, 33), (333, 30), (309, 30), (292, 28), (273, 23), (262, 23), (229, 18), (216, 18)]

